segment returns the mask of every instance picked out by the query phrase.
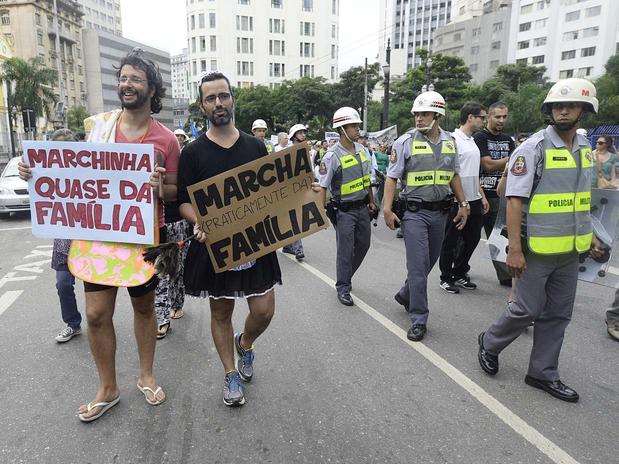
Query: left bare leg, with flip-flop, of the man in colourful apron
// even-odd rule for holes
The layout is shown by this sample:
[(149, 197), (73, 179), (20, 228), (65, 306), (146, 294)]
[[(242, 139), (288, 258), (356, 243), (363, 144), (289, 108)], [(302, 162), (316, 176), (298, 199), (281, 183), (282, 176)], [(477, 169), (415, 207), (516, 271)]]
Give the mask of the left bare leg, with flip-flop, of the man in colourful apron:
[[(88, 341), (99, 373), (99, 389), (92, 404), (111, 401), (120, 394), (116, 383), (116, 333), (112, 320), (117, 292), (117, 288), (110, 288), (85, 293)], [(100, 408), (93, 408), (88, 412), (87, 405), (79, 408), (84, 417), (94, 416), (99, 411)]]

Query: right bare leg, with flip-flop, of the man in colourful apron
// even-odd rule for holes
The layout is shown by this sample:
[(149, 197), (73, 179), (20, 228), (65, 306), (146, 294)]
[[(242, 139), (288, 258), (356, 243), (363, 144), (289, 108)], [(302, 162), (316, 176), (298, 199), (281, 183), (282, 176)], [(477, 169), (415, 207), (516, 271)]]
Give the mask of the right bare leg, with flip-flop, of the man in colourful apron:
[(157, 318), (155, 317), (155, 291), (144, 296), (131, 298), (133, 306), (133, 332), (138, 345), (140, 357), (140, 375), (138, 384), (152, 390), (145, 392), (149, 402), (161, 402), (165, 393), (160, 390), (155, 395), (158, 385), (153, 376), (153, 362), (155, 360), (155, 346), (157, 342)]

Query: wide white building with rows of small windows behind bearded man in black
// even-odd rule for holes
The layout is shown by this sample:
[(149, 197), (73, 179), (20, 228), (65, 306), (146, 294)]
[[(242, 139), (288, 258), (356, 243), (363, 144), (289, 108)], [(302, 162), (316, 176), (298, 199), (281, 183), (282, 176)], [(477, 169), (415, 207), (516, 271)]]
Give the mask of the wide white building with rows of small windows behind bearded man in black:
[(186, 0), (191, 97), (207, 71), (232, 85), (338, 77), (339, 0)]

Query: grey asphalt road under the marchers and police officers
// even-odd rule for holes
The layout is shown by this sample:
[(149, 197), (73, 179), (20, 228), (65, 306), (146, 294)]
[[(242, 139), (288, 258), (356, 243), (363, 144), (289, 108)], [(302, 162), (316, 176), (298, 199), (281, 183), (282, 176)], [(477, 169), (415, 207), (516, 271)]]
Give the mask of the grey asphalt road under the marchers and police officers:
[[(421, 344), (393, 300), (405, 276), (403, 242), (379, 224), (353, 280), (357, 305), (339, 304), (332, 230), (304, 240), (306, 264), (280, 255), (276, 315), (256, 345), (247, 404), (221, 401), (223, 372), (203, 300), (158, 342), (156, 375), (168, 400), (136, 389), (131, 308), (119, 292), (115, 324), (121, 402), (81, 423), (96, 370), (86, 335), (66, 344), (49, 267), (51, 241), (28, 216), (0, 220), (1, 463), (617, 463), (619, 344), (605, 332), (613, 289), (579, 284), (561, 357), (567, 404), (523, 382), (532, 342), (501, 355), (501, 372), (477, 364), (477, 334), (503, 310), (507, 291), (480, 244), (476, 291), (449, 295), (430, 278), (431, 315)], [(78, 302), (83, 308), (81, 284)], [(247, 312), (239, 302), (235, 323)]]

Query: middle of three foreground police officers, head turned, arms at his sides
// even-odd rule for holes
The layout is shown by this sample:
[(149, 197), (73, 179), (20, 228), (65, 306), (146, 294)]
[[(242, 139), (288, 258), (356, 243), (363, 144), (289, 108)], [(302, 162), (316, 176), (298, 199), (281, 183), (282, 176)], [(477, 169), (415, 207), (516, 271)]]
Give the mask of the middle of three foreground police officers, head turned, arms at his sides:
[[(440, 252), (447, 213), (458, 201), (453, 221), (459, 229), (466, 225), (469, 209), (458, 176), (456, 146), (449, 133), (439, 127), (445, 115), (445, 100), (437, 92), (423, 92), (414, 101), (411, 113), (416, 128), (393, 144), (385, 181), (384, 216), (391, 229), (401, 224), (406, 247), (407, 279), (395, 295), (409, 313), (412, 326), (409, 340), (421, 341), (428, 320), (428, 274)], [(397, 180), (400, 179), (399, 215), (392, 211)]]

